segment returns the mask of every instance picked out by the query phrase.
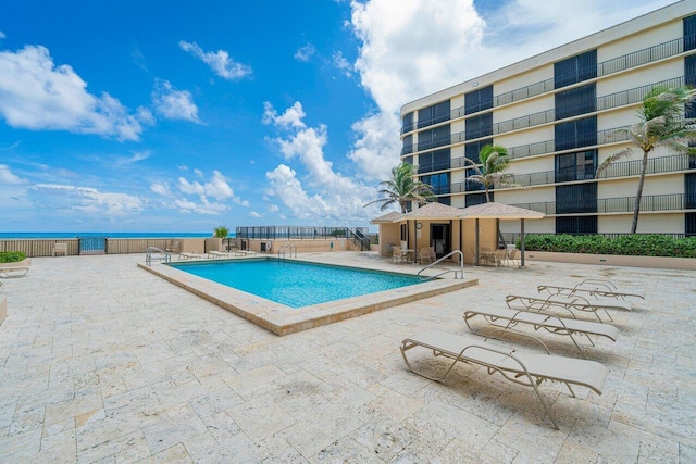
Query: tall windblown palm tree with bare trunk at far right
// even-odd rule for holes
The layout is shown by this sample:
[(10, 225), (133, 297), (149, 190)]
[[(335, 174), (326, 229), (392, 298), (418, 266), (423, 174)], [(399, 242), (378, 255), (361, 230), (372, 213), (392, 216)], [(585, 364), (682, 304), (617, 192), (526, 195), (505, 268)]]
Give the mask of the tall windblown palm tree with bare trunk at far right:
[[(696, 127), (693, 120), (683, 117), (684, 105), (695, 97), (696, 89), (688, 87), (655, 87), (645, 96), (637, 110), (638, 122), (625, 129), (631, 141), (643, 151), (638, 191), (635, 195), (633, 206), (631, 234), (635, 234), (638, 227), (638, 213), (641, 212), (641, 198), (643, 197), (645, 171), (648, 165), (648, 153), (656, 147), (667, 147), (675, 153), (696, 155), (696, 147), (689, 147), (691, 143), (696, 142)], [(601, 172), (616, 161), (629, 158), (631, 153), (632, 150), (629, 147), (612, 154), (599, 165), (595, 177), (598, 177)]]

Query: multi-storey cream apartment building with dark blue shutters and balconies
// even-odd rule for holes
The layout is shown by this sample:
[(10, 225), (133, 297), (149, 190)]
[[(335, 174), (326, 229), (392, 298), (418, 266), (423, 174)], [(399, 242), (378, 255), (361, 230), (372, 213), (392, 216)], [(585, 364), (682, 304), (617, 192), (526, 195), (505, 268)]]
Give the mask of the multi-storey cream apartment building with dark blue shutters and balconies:
[[(696, 86), (693, 0), (405, 104), (401, 160), (437, 201), (465, 208), (486, 200), (464, 159), (477, 162), (482, 147), (500, 145), (524, 188), (496, 188), (492, 201), (545, 213), (527, 231), (629, 233), (642, 151), (598, 178), (597, 166), (633, 147), (622, 129), (655, 86), (682, 85)], [(502, 233), (518, 227), (500, 224)], [(696, 235), (696, 159), (650, 153), (637, 231)]]

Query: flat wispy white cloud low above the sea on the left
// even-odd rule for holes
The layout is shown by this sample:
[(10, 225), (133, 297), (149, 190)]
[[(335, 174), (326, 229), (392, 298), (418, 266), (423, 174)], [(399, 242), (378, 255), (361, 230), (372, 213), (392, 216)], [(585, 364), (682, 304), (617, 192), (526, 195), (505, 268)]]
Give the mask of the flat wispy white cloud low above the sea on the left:
[(145, 209), (145, 202), (127, 193), (102, 192), (91, 187), (37, 184), (29, 190), (38, 193), (35, 204), (64, 213), (127, 216)]

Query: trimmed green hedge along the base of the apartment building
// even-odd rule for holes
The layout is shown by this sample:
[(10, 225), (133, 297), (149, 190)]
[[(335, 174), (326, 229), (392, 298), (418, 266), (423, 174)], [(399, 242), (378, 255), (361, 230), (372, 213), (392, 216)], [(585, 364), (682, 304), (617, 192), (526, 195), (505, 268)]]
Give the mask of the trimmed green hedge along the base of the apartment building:
[(524, 249), (561, 253), (696, 258), (696, 237), (672, 238), (660, 234), (636, 234), (617, 238), (600, 235), (526, 235)]

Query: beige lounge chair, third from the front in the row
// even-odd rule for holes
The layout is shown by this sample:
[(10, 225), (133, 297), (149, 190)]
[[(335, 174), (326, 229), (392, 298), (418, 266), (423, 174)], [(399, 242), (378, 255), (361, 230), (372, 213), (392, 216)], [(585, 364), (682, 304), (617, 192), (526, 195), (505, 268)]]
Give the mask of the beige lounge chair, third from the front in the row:
[(609, 317), (610, 321), (613, 322), (613, 317), (607, 310), (616, 310), (616, 311), (631, 311), (631, 308), (625, 304), (621, 304), (618, 301), (616, 302), (605, 302), (599, 300), (588, 300), (587, 298), (581, 296), (574, 297), (564, 297), (562, 294), (551, 294), (547, 298), (543, 296), (522, 296), (522, 294), (508, 294), (505, 297), (505, 302), (508, 304), (508, 308), (514, 310), (513, 304), (521, 304), (522, 308), (536, 311), (536, 312), (545, 312), (549, 309), (562, 309), (568, 311), (573, 318), (576, 318), (574, 311), (581, 311), (585, 313), (593, 313), (599, 322), (601, 317), (599, 317), (599, 311), (604, 311), (605, 314)]

